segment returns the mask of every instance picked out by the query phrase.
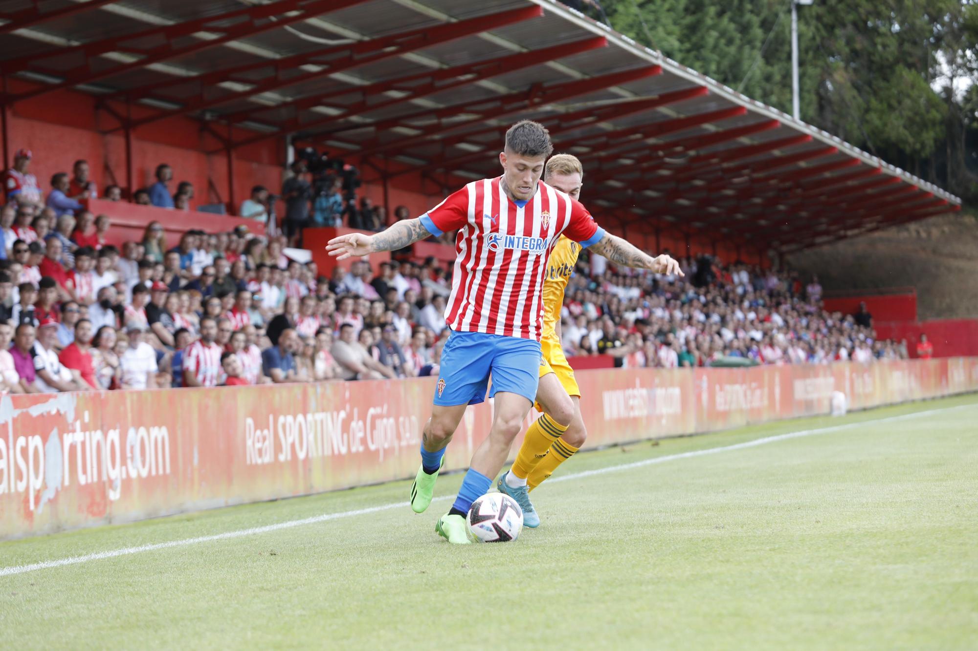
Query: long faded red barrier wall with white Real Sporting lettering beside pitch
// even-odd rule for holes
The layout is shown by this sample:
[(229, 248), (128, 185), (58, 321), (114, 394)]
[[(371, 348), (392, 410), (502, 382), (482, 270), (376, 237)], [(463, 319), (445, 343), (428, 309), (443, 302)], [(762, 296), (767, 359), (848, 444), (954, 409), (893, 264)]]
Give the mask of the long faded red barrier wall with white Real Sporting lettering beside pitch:
[[(978, 390), (978, 358), (578, 373), (589, 447)], [(0, 398), (0, 539), (406, 478), (433, 378)], [(529, 420), (536, 416), (532, 412)], [(445, 465), (492, 419), (470, 407)], [(515, 448), (514, 448), (515, 449)]]

